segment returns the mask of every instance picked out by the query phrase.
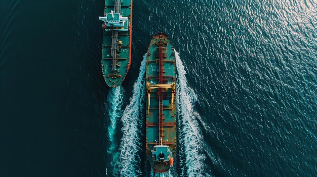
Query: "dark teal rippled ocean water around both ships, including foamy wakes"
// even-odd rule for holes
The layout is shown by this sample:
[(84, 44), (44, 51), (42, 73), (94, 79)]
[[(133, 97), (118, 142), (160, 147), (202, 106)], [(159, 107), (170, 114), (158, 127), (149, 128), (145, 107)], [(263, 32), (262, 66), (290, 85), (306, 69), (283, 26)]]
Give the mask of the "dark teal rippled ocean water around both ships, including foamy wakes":
[[(133, 5), (132, 66), (110, 89), (104, 1), (0, 1), (0, 176), (317, 176), (316, 1)], [(178, 53), (178, 154), (163, 175), (143, 148), (157, 32)]]

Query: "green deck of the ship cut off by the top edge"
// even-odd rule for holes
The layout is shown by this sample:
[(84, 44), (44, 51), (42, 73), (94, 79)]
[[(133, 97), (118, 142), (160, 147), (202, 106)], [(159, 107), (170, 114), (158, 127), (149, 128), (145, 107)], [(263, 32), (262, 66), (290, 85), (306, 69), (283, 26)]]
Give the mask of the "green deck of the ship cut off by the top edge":
[[(114, 0), (105, 1), (104, 16), (107, 13), (114, 11)], [(118, 41), (122, 41), (120, 51), (120, 57), (117, 58), (117, 66), (115, 72), (112, 70), (112, 56), (111, 56), (111, 41), (112, 30), (103, 30), (103, 42), (102, 42), (102, 72), (106, 84), (109, 87), (118, 87), (125, 79), (131, 63), (131, 29), (132, 29), (132, 0), (122, 0), (121, 2), (121, 15), (123, 17), (129, 17), (125, 28), (128, 31), (118, 31)], [(109, 18), (109, 16), (108, 16)], [(118, 18), (118, 17), (114, 17)], [(114, 19), (115, 20), (115, 19)]]

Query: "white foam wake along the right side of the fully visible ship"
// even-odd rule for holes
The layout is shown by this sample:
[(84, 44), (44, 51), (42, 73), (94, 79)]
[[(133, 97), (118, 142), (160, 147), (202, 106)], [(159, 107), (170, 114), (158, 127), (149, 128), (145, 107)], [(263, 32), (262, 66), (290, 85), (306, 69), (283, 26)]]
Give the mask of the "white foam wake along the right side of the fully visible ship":
[[(177, 114), (179, 131), (179, 163), (182, 167), (181, 176), (206, 176), (204, 173), (205, 155), (203, 154), (203, 138), (197, 120), (201, 117), (193, 107), (197, 97), (187, 86), (186, 71), (175, 51), (177, 67)], [(185, 174), (186, 173), (186, 174)]]

